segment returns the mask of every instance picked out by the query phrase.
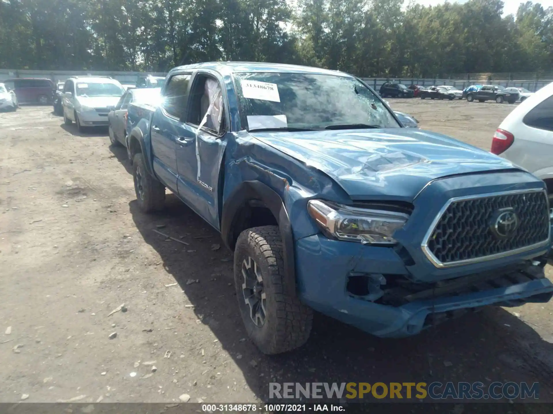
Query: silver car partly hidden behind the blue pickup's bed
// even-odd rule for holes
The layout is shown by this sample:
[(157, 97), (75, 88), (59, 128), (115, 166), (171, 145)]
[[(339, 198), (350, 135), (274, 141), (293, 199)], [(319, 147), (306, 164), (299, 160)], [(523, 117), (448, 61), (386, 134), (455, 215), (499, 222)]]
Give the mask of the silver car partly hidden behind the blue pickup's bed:
[(160, 99), (161, 88), (129, 89), (115, 107), (109, 108), (107, 115), (109, 141), (112, 145), (127, 146), (127, 108), (130, 103), (147, 103), (153, 105)]

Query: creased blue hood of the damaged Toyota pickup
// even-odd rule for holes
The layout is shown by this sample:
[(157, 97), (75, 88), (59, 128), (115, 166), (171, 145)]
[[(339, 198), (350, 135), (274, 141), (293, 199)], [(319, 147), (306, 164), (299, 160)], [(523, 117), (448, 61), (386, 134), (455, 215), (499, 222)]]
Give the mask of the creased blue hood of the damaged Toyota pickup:
[(326, 173), (354, 200), (410, 201), (436, 178), (518, 168), (445, 135), (409, 128), (251, 135)]

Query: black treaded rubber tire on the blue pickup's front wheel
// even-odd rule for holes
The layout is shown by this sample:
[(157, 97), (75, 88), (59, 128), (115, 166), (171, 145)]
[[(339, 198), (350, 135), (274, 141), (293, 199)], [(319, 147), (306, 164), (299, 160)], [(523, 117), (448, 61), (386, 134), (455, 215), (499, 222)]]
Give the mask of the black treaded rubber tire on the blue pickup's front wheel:
[[(242, 263), (251, 257), (263, 277), (265, 321), (258, 327), (244, 301)], [(278, 226), (252, 227), (238, 236), (234, 250), (234, 286), (238, 307), (249, 338), (264, 354), (299, 348), (311, 333), (313, 311), (285, 293), (283, 245)]]

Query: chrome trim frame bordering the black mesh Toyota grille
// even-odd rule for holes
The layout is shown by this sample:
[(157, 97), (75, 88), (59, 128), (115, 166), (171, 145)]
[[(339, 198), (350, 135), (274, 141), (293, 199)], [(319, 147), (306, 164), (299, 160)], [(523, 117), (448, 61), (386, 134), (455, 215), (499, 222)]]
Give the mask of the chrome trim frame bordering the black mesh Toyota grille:
[[(549, 200), (547, 198), (547, 191), (544, 188), (530, 188), (530, 189), (524, 189), (524, 190), (513, 190), (513, 191), (504, 191), (499, 193), (487, 193), (487, 194), (476, 194), (476, 195), (466, 195), (464, 197), (454, 197), (447, 200), (446, 204), (440, 209), (434, 220), (432, 221), (432, 224), (430, 225), (428, 231), (426, 232), (426, 235), (424, 238), (422, 238), (421, 243), (421, 249), (422, 252), (425, 254), (425, 256), (429, 259), (429, 261), (434, 264), (437, 268), (447, 268), (447, 267), (454, 267), (454, 266), (461, 266), (463, 264), (471, 264), (471, 263), (479, 263), (479, 262), (485, 262), (493, 259), (499, 259), (502, 257), (512, 256), (513, 254), (517, 253), (523, 253), (530, 250), (534, 250), (535, 248), (539, 247), (549, 247), (550, 239), (551, 239), (551, 226), (549, 226), (548, 232), (547, 232), (547, 238), (541, 242), (535, 243), (533, 245), (520, 247), (518, 249), (509, 250), (505, 252), (490, 254), (489, 256), (482, 256), (482, 257), (476, 257), (472, 259), (466, 259), (466, 260), (459, 260), (456, 262), (447, 262), (442, 263), (439, 259), (434, 256), (434, 254), (431, 252), (430, 248), (428, 247), (428, 241), (430, 240), (430, 237), (432, 236), (432, 233), (434, 232), (434, 229), (436, 228), (436, 225), (440, 221), (442, 215), (444, 215), (447, 208), (456, 201), (463, 201), (463, 200), (476, 200), (479, 198), (486, 198), (486, 197), (497, 197), (500, 195), (512, 195), (512, 194), (524, 194), (524, 193), (543, 193), (545, 199), (547, 200), (547, 215), (549, 215)], [(542, 252), (536, 253), (536, 256), (539, 256), (540, 254), (544, 254), (547, 251), (545, 249)]]

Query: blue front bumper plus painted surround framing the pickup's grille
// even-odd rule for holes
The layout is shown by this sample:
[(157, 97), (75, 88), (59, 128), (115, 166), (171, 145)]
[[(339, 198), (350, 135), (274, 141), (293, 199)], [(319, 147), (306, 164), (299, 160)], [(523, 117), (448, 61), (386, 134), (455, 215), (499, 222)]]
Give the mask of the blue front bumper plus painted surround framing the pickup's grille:
[(315, 310), (380, 337), (415, 335), (430, 320), (484, 305), (546, 302), (553, 284), (543, 272), (549, 251), (543, 243), (451, 267), (432, 264), (422, 250), (426, 233), (449, 200), (535, 192), (543, 186), (523, 171), (432, 181), (413, 200), (413, 213), (403, 229), (394, 233), (399, 243), (395, 247), (331, 240), (321, 233), (298, 238), (298, 295)]

